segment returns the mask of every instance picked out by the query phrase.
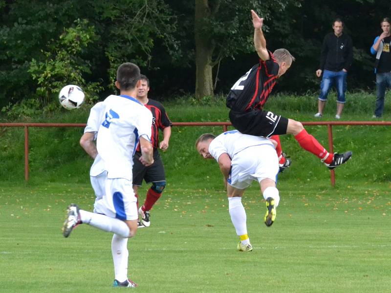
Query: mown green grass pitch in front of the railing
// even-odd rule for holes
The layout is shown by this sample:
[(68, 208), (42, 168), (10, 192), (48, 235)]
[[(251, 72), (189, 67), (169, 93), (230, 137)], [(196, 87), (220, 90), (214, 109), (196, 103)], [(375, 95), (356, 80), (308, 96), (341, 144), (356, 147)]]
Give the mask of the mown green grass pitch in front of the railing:
[[(328, 178), (305, 184), (281, 176), (270, 228), (253, 185), (243, 197), (248, 253), (236, 251), (219, 185), (167, 186), (151, 227), (129, 241), (137, 292), (389, 292), (390, 183), (340, 180), (330, 188)], [(0, 292), (115, 290), (111, 234), (87, 225), (61, 234), (66, 206), (91, 210), (93, 199), (87, 184), (0, 183)]]

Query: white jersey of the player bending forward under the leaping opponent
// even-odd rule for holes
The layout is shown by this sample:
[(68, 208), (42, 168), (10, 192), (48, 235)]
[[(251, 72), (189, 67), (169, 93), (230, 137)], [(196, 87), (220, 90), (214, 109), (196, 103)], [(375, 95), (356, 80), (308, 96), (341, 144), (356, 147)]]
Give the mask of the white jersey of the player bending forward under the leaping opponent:
[[(209, 145), (209, 153), (218, 161), (218, 157), (227, 153), (232, 159), (235, 154), (249, 146), (272, 145), (273, 143), (262, 136), (248, 135), (238, 130), (221, 133)], [(274, 146), (273, 146), (274, 147)]]

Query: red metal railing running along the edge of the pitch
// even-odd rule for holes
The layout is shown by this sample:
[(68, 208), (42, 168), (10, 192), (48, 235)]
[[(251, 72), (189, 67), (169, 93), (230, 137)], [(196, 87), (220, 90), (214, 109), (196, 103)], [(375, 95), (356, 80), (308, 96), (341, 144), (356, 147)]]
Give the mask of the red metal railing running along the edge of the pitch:
[[(332, 126), (391, 126), (391, 121), (316, 121), (302, 122), (304, 126), (327, 126), (328, 149), (333, 153)], [(174, 126), (222, 126), (227, 131), (230, 122), (174, 122)], [(83, 123), (0, 123), (0, 127), (24, 127), (24, 179), (28, 181), (28, 127), (85, 127)], [(334, 170), (330, 171), (331, 186), (335, 186)]]

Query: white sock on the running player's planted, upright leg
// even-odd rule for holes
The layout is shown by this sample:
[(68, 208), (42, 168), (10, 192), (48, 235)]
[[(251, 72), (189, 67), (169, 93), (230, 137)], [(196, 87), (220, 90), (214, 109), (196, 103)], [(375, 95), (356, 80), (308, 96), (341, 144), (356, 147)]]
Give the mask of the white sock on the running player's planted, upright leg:
[(128, 279), (128, 238), (114, 234), (111, 240), (111, 254), (114, 262), (115, 279), (122, 283)]

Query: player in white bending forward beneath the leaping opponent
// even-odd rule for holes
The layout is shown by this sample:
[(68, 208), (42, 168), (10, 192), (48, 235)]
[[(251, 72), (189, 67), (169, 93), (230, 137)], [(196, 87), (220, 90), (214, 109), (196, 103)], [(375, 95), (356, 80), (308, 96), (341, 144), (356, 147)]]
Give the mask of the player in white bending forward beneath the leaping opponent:
[(264, 222), (270, 227), (276, 219), (276, 208), (280, 202), (276, 188), (279, 172), (276, 142), (261, 136), (242, 134), (231, 130), (215, 136), (202, 134), (195, 142), (198, 153), (204, 159), (218, 162), (227, 183), (228, 208), (232, 224), (240, 238), (239, 251), (252, 251), (247, 233), (246, 212), (241, 202), (244, 190), (257, 180), (266, 200)]

